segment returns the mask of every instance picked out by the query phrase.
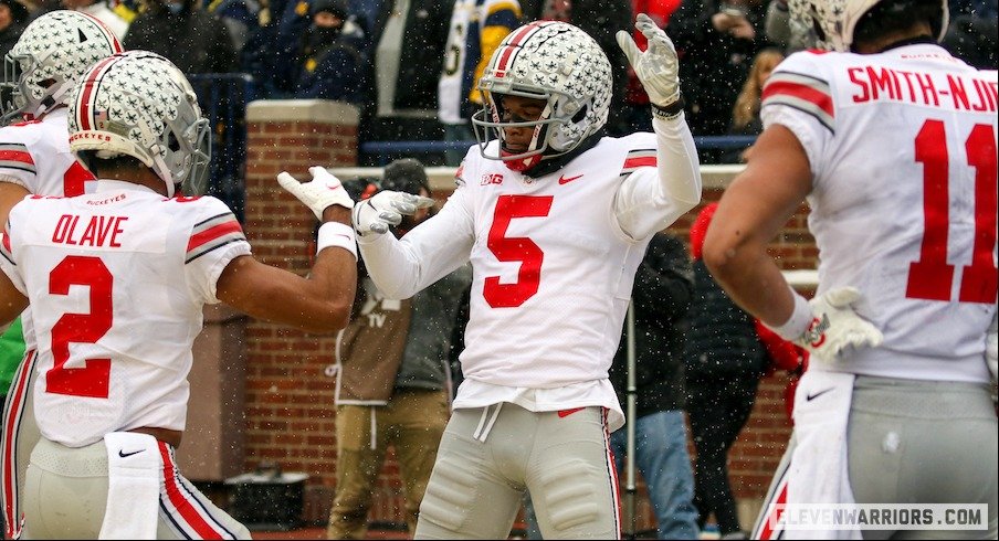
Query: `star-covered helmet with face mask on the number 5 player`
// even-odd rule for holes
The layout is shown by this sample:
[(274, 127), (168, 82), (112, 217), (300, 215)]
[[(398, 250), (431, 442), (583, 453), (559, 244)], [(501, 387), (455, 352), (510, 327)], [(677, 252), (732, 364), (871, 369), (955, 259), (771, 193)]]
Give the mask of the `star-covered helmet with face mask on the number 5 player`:
[[(536, 21), (514, 30), (479, 79), (485, 99), (472, 124), (482, 156), (523, 171), (543, 157), (570, 152), (607, 124), (611, 84), (607, 54), (582, 30), (558, 21)], [(512, 121), (504, 118), (503, 95), (544, 99), (547, 106), (535, 121)], [(526, 151), (505, 149), (504, 128), (508, 127), (534, 127)], [(498, 156), (490, 156), (486, 144), (496, 138)]]

